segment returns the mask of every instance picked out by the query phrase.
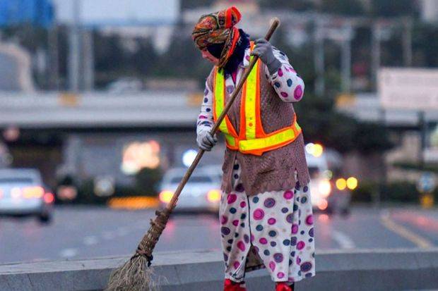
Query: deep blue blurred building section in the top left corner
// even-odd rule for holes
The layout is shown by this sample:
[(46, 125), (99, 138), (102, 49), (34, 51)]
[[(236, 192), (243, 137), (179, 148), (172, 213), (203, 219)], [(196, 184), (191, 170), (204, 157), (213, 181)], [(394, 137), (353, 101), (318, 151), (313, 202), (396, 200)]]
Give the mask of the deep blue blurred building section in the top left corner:
[(53, 20), (53, 6), (50, 0), (0, 1), (0, 26), (29, 23), (47, 27)]

